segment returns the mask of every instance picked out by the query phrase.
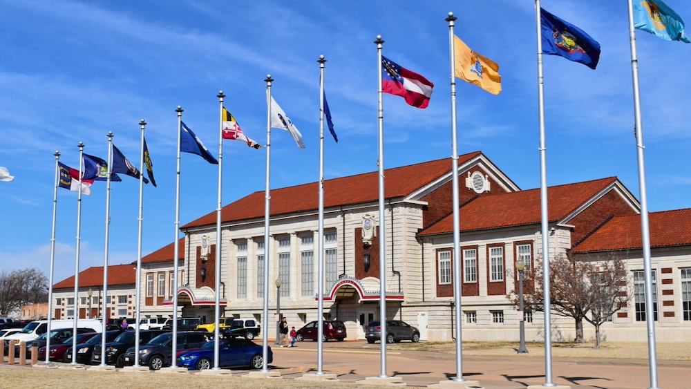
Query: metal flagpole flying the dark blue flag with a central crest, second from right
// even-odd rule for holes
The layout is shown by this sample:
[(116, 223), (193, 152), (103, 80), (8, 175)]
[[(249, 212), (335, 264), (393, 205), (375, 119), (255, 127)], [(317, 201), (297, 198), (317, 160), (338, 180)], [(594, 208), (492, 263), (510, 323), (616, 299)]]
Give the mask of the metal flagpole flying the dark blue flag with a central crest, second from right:
[(547, 146), (545, 144), (545, 91), (542, 77), (542, 23), (540, 22), (540, 0), (535, 0), (535, 19), (538, 30), (538, 117), (540, 121), (540, 220), (542, 234), (542, 294), (545, 311), (545, 383), (552, 382), (552, 339), (551, 302), (549, 296), (549, 218), (547, 213)]

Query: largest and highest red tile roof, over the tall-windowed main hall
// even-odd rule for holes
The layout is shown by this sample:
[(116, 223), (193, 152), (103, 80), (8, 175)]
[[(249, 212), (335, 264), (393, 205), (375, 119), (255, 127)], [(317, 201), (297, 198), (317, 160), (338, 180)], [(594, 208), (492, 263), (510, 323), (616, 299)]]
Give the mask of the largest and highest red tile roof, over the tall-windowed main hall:
[[(477, 156), (480, 151), (460, 155), (458, 163), (464, 164)], [(451, 173), (451, 158), (422, 162), (405, 167), (386, 169), (386, 198), (408, 196), (433, 182), (442, 175)], [(254, 192), (221, 209), (223, 222), (261, 218), (264, 216), (264, 191)], [(271, 214), (292, 214), (301, 211), (313, 211), (319, 208), (319, 185), (317, 182), (271, 190)], [(377, 201), (379, 198), (379, 172), (350, 175), (324, 181), (324, 207), (359, 204)], [(181, 228), (213, 225), (216, 223), (216, 211), (213, 211)]]

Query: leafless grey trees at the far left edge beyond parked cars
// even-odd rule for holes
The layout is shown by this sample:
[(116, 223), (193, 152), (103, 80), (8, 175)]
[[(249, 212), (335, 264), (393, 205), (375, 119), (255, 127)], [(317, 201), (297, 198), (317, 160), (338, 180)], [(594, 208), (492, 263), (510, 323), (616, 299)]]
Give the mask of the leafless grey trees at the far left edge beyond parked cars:
[(48, 278), (31, 267), (0, 272), (0, 316), (8, 316), (19, 307), (48, 301)]

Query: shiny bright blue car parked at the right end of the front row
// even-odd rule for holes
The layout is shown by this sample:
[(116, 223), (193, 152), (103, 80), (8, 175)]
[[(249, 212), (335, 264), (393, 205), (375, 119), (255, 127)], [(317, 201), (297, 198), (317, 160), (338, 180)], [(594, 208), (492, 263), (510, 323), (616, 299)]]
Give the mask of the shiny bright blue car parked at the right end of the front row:
[[(218, 344), (221, 368), (249, 366), (263, 368), (262, 346), (247, 339), (223, 339)], [(274, 353), (268, 348), (267, 357), (272, 363)], [(178, 366), (189, 370), (207, 370), (214, 367), (214, 341), (208, 341), (198, 350), (178, 354)]]

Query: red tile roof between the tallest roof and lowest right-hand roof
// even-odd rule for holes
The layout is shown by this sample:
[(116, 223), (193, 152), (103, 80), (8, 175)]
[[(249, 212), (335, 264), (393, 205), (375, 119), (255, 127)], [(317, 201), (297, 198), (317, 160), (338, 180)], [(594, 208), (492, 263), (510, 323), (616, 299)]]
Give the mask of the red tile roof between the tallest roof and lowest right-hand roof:
[[(616, 177), (558, 185), (547, 189), (549, 221), (562, 220), (587, 200), (605, 189)], [(540, 189), (479, 196), (460, 209), (461, 231), (529, 225), (540, 222)], [(453, 233), (453, 214), (419, 235)]]

